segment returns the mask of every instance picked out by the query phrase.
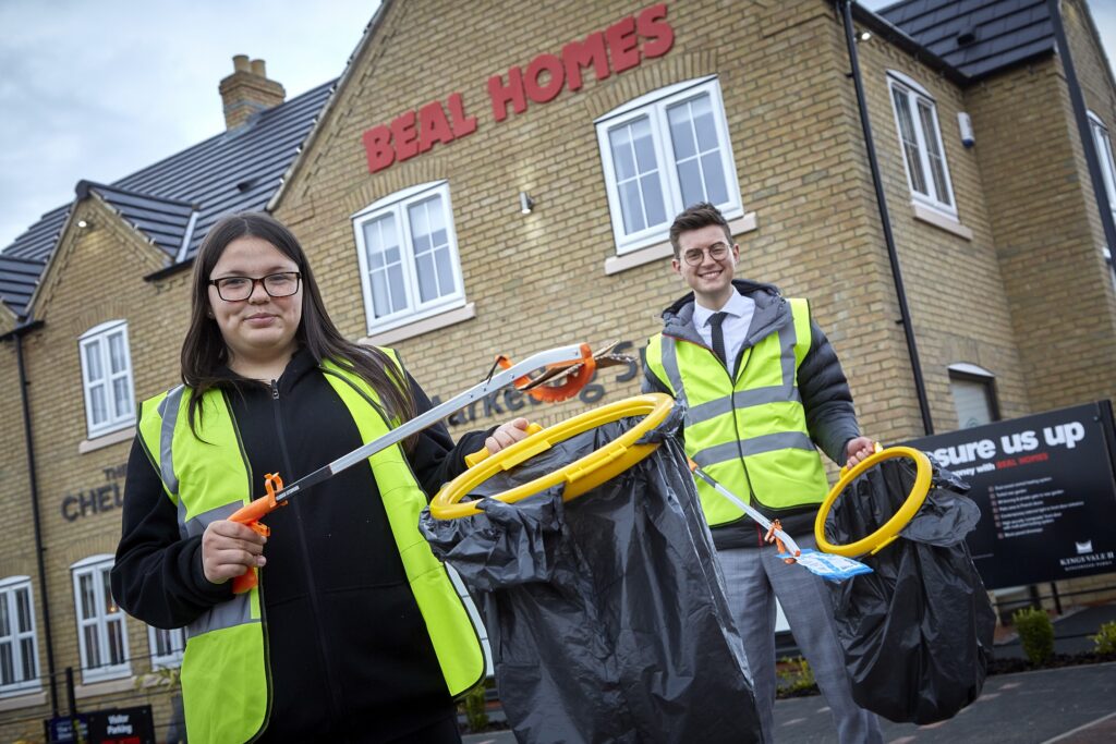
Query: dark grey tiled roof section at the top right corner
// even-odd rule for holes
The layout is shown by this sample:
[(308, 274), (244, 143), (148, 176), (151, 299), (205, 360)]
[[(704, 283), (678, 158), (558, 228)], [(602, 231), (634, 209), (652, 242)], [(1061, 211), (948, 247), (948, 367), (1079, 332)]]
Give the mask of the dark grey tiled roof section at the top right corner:
[(1055, 48), (1045, 0), (904, 0), (876, 13), (970, 80)]

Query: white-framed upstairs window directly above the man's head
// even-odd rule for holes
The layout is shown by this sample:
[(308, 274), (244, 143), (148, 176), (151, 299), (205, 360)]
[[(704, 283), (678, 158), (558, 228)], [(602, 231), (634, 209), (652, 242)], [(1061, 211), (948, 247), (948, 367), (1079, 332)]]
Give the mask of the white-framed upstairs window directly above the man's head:
[(665, 241), (674, 215), (696, 202), (743, 214), (715, 77), (647, 94), (595, 124), (617, 253)]

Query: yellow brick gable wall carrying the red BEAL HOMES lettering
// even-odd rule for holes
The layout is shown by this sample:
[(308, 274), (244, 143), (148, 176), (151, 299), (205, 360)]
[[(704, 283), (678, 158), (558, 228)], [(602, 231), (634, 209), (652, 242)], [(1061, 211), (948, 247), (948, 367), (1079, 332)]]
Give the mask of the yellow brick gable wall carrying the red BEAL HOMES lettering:
[[(499, 7), (498, 7), (499, 4)], [(758, 230), (740, 236), (738, 273), (807, 296), (847, 359), (867, 424), (881, 436), (917, 431), (903, 336), (879, 250), (870, 182), (855, 139), (840, 27), (812, 0), (770, 3), (742, 19), (718, 2), (671, 6), (673, 49), (635, 69), (496, 123), (485, 83), (540, 52), (638, 10), (581, 3), (550, 12), (506, 3), (407, 2), (391, 8), (357, 60), (316, 142), (287, 184), (277, 215), (300, 235), (343, 331), (365, 335), (349, 216), (376, 199), (448, 178), (472, 320), (396, 344), (432, 395), (446, 398), (487, 371), (498, 352), (519, 357), (571, 341), (632, 341), (641, 348), (658, 313), (685, 290), (663, 259), (607, 276), (615, 254), (593, 120), (666, 85), (718, 74), (744, 209)], [(424, 19), (439, 18), (432, 27)], [(478, 18), (485, 19), (483, 28)], [(460, 29), (473, 29), (461, 32)], [(421, 61), (407, 52), (427, 49)], [(796, 50), (809, 49), (810, 54)], [(362, 133), (397, 114), (461, 91), (478, 132), (369, 175)], [(520, 215), (517, 196), (537, 199)], [(320, 268), (324, 267), (324, 268)], [(452, 360), (452, 364), (446, 364)], [(602, 375), (616, 399), (638, 378)], [(543, 423), (585, 408), (535, 409)], [(499, 423), (491, 417), (477, 425)]]

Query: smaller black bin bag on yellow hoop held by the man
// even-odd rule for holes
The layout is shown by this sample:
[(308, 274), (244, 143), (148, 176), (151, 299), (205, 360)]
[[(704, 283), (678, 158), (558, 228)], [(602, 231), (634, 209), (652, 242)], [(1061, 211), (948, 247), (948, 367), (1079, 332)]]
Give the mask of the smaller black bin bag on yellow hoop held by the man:
[[(980, 508), (968, 484), (931, 463), (922, 509), (897, 540), (859, 559), (874, 572), (827, 582), (853, 698), (897, 723), (954, 716), (980, 695), (992, 656), (995, 615), (965, 544)], [(914, 479), (907, 457), (866, 471), (834, 504), (826, 539), (846, 544), (878, 530)]]

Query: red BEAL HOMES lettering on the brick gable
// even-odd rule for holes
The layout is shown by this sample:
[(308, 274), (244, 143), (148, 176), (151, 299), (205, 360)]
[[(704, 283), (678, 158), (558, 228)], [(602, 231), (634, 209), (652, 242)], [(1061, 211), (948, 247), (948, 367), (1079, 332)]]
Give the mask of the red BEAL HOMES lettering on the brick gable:
[[(528, 102), (546, 104), (564, 89), (578, 90), (583, 70), (591, 67), (597, 80), (637, 67), (644, 59), (662, 57), (674, 45), (674, 29), (666, 21), (666, 3), (645, 8), (622, 18), (604, 31), (594, 31), (570, 41), (555, 54), (541, 54), (526, 68), (512, 67), (488, 81), (492, 118), (508, 118), (508, 110), (522, 114)], [(403, 112), (387, 124), (364, 133), (368, 172), (376, 173), (396, 162), (429, 152), (435, 144), (449, 144), (477, 132), (477, 117), (469, 116), (460, 93)]]

